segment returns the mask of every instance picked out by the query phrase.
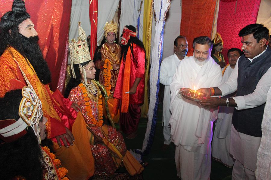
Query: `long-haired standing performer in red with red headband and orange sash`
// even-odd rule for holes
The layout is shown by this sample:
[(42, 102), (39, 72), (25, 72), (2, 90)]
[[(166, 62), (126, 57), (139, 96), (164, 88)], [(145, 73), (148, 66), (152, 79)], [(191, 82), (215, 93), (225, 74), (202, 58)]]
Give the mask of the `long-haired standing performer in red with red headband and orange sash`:
[(121, 101), (115, 103), (115, 107), (120, 107), (120, 129), (129, 134), (128, 139), (133, 139), (141, 116), (140, 105), (144, 102), (146, 51), (134, 26), (125, 26), (121, 39), (120, 71), (113, 97)]

